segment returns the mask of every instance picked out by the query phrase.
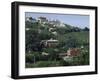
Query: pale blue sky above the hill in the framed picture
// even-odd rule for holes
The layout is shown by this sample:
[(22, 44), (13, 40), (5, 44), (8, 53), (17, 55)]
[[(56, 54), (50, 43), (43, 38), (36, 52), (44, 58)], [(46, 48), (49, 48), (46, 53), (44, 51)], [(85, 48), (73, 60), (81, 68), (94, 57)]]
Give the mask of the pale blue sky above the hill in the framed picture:
[(40, 16), (46, 17), (49, 20), (59, 20), (71, 26), (89, 28), (89, 15), (25, 12), (25, 17), (38, 18)]

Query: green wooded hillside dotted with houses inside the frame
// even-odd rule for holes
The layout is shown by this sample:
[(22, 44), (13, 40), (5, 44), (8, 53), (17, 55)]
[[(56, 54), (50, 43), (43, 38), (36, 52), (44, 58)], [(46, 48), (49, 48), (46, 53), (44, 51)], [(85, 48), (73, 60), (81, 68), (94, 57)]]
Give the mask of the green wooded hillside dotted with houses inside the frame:
[[(50, 23), (49, 21), (45, 23), (26, 21), (25, 28), (26, 67), (89, 64), (89, 29), (87, 27), (81, 29), (62, 24), (60, 21)], [(68, 56), (68, 51), (73, 50), (72, 55)]]

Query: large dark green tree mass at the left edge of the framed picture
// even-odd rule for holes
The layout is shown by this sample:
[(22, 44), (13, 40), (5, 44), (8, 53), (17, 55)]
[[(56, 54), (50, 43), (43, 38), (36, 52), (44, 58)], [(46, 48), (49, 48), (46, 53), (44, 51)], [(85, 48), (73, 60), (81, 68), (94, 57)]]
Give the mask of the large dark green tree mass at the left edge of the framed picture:
[(26, 44), (26, 52), (32, 51), (32, 50), (41, 50), (40, 49), (40, 38), (38, 37), (37, 30), (29, 30), (26, 31), (26, 37), (25, 37), (25, 44)]

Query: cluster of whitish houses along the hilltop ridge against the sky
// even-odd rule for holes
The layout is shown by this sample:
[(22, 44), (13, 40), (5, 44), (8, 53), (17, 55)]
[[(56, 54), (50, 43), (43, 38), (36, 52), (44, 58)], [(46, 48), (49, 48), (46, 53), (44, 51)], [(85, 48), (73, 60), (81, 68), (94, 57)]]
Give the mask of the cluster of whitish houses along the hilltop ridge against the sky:
[(32, 18), (32, 17), (26, 17), (25, 21), (29, 22), (39, 22), (42, 26), (45, 26), (46, 24), (50, 24), (53, 27), (65, 27), (65, 24), (60, 22), (59, 20), (48, 20), (46, 17), (38, 17), (38, 18)]

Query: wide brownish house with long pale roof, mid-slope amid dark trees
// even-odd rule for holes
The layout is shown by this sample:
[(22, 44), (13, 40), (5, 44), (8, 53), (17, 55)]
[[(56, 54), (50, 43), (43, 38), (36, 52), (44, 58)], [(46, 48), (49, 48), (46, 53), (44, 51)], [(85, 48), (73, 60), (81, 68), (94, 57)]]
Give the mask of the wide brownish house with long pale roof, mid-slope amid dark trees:
[(54, 39), (42, 40), (41, 44), (43, 44), (44, 47), (55, 47), (58, 45), (58, 40), (54, 40)]

